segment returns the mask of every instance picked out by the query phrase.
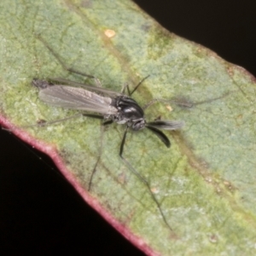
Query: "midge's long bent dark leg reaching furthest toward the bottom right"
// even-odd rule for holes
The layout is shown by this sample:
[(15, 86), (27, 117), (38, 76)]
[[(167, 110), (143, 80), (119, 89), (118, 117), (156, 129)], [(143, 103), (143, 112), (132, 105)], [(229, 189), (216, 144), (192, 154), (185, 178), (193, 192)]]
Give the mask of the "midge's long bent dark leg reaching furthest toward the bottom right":
[(162, 216), (162, 218), (163, 218), (165, 224), (166, 224), (167, 227), (173, 232), (172, 227), (171, 227), (170, 224), (168, 224), (167, 219), (166, 219), (166, 216), (165, 216), (164, 212), (162, 211), (162, 209), (161, 209), (161, 207), (160, 207), (160, 203), (159, 203), (159, 201), (157, 201), (156, 197), (154, 196), (154, 193), (152, 192), (148, 181), (147, 181), (146, 178), (143, 177), (139, 172), (137, 172), (136, 169), (135, 169), (133, 166), (131, 166), (131, 163), (130, 163), (128, 160), (126, 160), (125, 157), (123, 156), (124, 146), (125, 146), (125, 139), (126, 139), (126, 134), (127, 134), (128, 128), (129, 128), (129, 126), (126, 126), (126, 128), (125, 128), (125, 133), (124, 133), (124, 136), (123, 136), (121, 145), (120, 145), (119, 156), (120, 156), (121, 160), (124, 161), (125, 165), (130, 168), (130, 171), (131, 171), (133, 174), (135, 174), (135, 175), (138, 177), (138, 179), (139, 179), (142, 183), (144, 183), (144, 185), (147, 187), (147, 189), (148, 189), (148, 191), (149, 191), (149, 194), (151, 195), (153, 201), (155, 202), (155, 204), (156, 204), (156, 206), (157, 206), (157, 208), (158, 208), (158, 210), (159, 210), (159, 212), (160, 212), (160, 215)]

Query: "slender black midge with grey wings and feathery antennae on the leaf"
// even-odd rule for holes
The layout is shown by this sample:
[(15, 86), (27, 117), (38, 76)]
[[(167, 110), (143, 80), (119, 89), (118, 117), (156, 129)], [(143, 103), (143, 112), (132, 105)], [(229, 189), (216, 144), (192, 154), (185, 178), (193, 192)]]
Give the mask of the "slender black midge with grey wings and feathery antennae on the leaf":
[[(128, 160), (125, 159), (123, 152), (126, 134), (129, 129), (131, 129), (131, 131), (140, 131), (146, 127), (148, 130), (153, 131), (154, 134), (159, 137), (160, 140), (166, 145), (167, 148), (170, 148), (170, 140), (160, 130), (179, 129), (184, 125), (183, 122), (160, 119), (155, 119), (152, 122), (146, 121), (144, 117), (144, 110), (158, 100), (155, 99), (151, 102), (148, 102), (148, 104), (142, 108), (135, 100), (131, 98), (131, 95), (148, 77), (137, 84), (137, 86), (132, 91), (130, 91), (128, 85), (126, 85), (119, 93), (113, 90), (103, 89), (99, 79), (96, 79), (94, 76), (80, 73), (70, 68), (67, 68), (67, 70), (73, 73), (79, 73), (80, 75), (84, 75), (90, 79), (95, 79), (98, 86), (80, 84), (77, 82), (69, 81), (67, 79), (50, 79), (50, 81), (33, 79), (32, 84), (39, 89), (39, 98), (43, 102), (54, 107), (71, 108), (90, 112), (83, 113), (83, 115), (90, 118), (103, 119), (103, 125), (109, 125), (113, 122), (125, 125), (125, 132), (119, 148), (119, 156), (125, 162), (125, 164), (130, 167), (131, 172), (133, 172), (147, 186), (148, 191), (156, 203), (162, 218), (170, 230), (172, 230), (171, 226), (166, 221), (166, 217), (161, 210), (160, 203), (157, 201), (154, 193), (152, 192), (148, 181), (139, 172), (137, 172), (137, 170)], [(125, 95), (125, 88), (127, 88), (128, 96)], [(49, 122), (49, 124), (55, 122), (56, 121)], [(99, 159), (96, 162), (96, 166)], [(89, 189), (93, 174), (96, 172), (96, 166), (90, 177)]]

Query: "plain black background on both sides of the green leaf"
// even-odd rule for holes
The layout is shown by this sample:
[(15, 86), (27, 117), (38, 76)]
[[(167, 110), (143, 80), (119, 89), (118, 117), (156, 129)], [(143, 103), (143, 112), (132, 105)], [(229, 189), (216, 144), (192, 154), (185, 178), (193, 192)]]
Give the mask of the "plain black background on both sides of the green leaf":
[[(256, 75), (253, 1), (135, 2), (171, 32)], [(143, 255), (87, 207), (46, 156), (1, 130), (0, 244), (1, 255)]]

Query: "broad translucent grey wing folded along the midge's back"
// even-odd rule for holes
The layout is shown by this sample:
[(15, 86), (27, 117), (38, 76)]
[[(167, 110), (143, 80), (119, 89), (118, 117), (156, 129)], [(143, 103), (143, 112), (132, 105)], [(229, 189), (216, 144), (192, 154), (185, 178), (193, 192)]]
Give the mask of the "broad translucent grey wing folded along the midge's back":
[(67, 85), (49, 85), (39, 91), (39, 98), (55, 107), (73, 108), (102, 114), (116, 114), (110, 97)]

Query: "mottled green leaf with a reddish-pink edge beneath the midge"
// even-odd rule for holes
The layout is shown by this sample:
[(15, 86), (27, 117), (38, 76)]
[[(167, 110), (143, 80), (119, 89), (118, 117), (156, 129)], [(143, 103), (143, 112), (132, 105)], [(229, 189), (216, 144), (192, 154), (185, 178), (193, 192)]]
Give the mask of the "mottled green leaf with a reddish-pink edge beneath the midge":
[[(20, 127), (13, 132), (48, 153), (84, 200), (145, 253), (254, 254), (255, 80), (249, 73), (166, 32), (130, 1), (3, 0), (0, 8), (3, 125)], [(128, 134), (124, 153), (147, 178), (172, 230), (147, 187), (119, 159), (122, 125), (104, 133), (90, 193), (99, 121), (24, 127), (76, 113), (45, 105), (32, 88), (33, 78), (84, 82), (46, 45), (67, 67), (96, 76), (110, 90), (135, 86), (150, 74), (134, 95), (141, 106), (172, 99), (146, 112), (147, 120), (185, 121), (182, 131), (165, 132), (172, 148), (139, 131)]]

